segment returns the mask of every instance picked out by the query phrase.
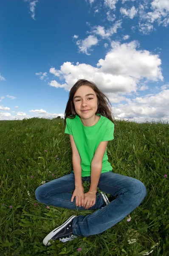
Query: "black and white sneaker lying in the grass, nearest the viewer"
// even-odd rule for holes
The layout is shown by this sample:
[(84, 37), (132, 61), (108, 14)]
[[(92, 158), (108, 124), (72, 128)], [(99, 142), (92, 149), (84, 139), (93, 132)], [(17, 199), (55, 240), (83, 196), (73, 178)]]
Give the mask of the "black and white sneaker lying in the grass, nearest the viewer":
[(68, 218), (67, 221), (65, 221), (65, 223), (52, 230), (51, 233), (49, 233), (48, 236), (43, 239), (43, 244), (46, 246), (50, 246), (51, 243), (48, 242), (49, 240), (59, 240), (65, 243), (67, 241), (75, 239), (76, 236), (73, 235), (72, 223), (73, 219), (76, 217), (76, 215), (72, 215), (70, 218)]

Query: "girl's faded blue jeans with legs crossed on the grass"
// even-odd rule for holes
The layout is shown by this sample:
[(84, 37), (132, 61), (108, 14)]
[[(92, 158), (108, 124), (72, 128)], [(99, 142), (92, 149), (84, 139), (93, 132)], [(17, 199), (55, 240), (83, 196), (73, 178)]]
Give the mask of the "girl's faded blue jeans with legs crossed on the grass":
[[(89, 177), (82, 177), (82, 182)], [(146, 196), (146, 187), (135, 178), (113, 172), (104, 172), (100, 175), (98, 187), (102, 192), (117, 196), (115, 200), (105, 206), (100, 193), (96, 194), (96, 204), (88, 210), (95, 210), (87, 216), (79, 215), (73, 219), (73, 235), (91, 236), (99, 234), (114, 226), (143, 201)], [(86, 210), (77, 207), (76, 200), (71, 202), (71, 191), (75, 189), (74, 173), (51, 180), (39, 186), (35, 191), (37, 201), (40, 203), (63, 207), (67, 209)]]

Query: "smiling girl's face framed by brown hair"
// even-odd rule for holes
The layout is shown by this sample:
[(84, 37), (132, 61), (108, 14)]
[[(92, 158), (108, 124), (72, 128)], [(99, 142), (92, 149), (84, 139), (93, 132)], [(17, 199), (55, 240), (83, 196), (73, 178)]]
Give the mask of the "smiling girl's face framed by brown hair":
[(96, 93), (87, 85), (82, 85), (76, 90), (73, 103), (76, 113), (83, 119), (89, 119), (95, 115), (98, 107)]

